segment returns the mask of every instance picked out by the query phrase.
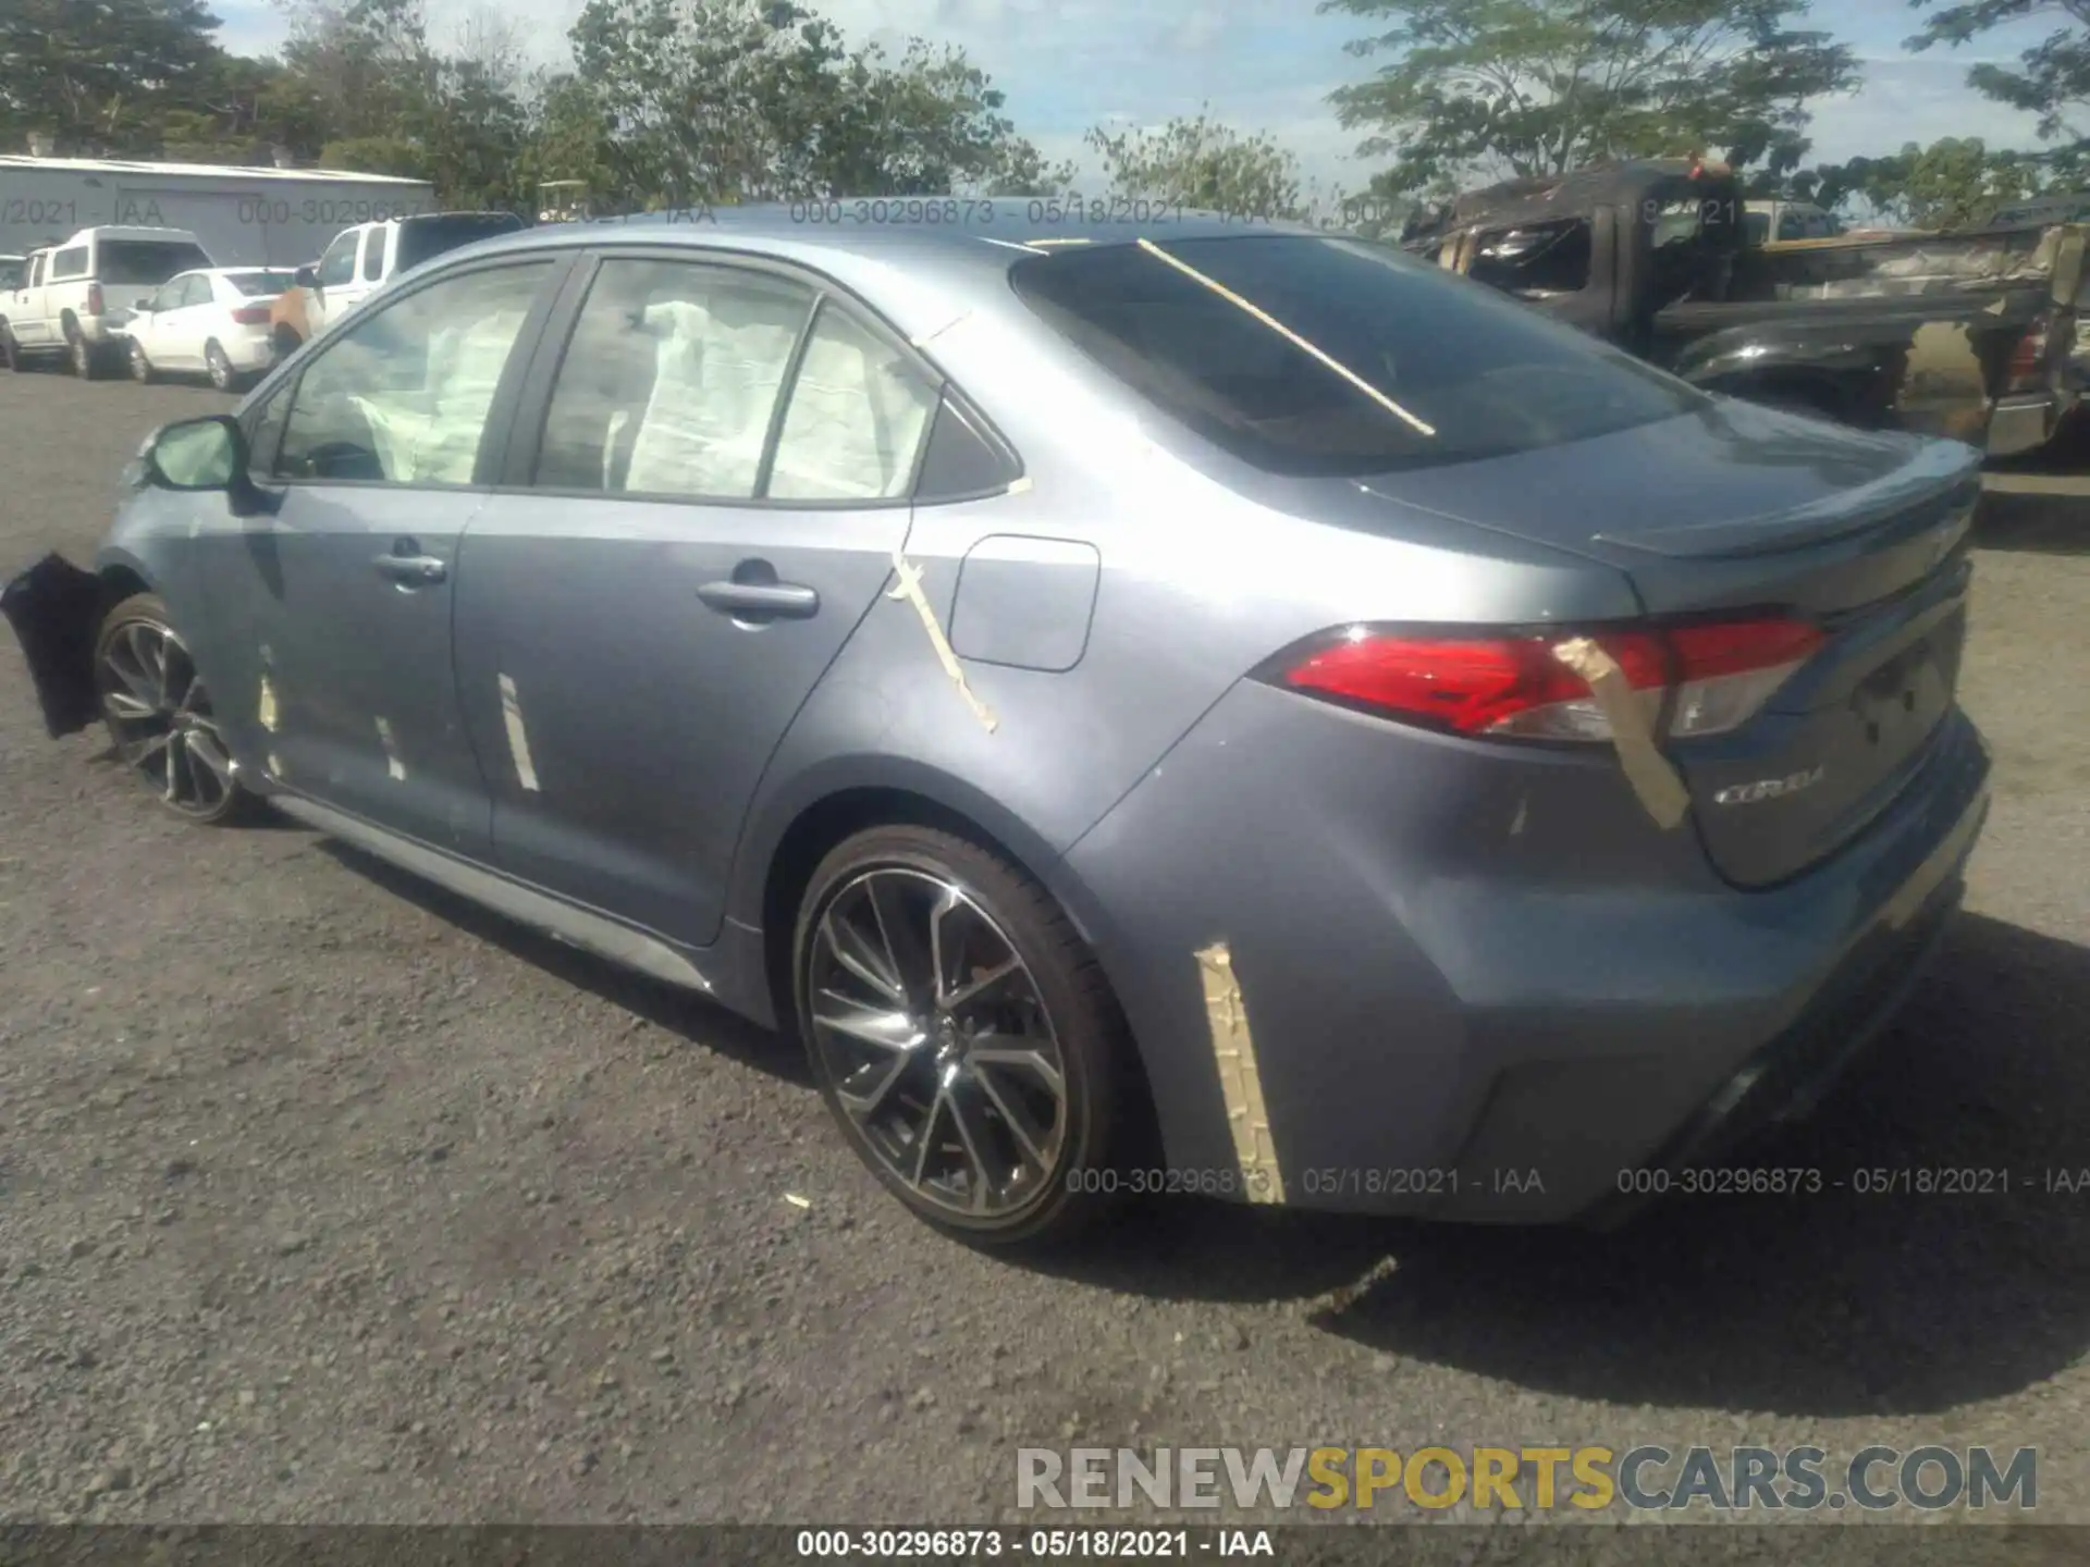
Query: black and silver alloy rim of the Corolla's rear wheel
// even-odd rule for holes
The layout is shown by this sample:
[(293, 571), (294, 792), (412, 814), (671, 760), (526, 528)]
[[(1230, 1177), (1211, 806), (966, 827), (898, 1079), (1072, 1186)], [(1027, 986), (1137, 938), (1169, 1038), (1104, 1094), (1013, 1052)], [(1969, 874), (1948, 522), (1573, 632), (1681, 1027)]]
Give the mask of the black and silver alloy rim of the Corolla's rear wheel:
[(874, 869), (811, 949), (813, 1040), (878, 1162), (963, 1218), (1035, 1203), (1066, 1143), (1066, 1066), (1037, 980), (963, 888)]

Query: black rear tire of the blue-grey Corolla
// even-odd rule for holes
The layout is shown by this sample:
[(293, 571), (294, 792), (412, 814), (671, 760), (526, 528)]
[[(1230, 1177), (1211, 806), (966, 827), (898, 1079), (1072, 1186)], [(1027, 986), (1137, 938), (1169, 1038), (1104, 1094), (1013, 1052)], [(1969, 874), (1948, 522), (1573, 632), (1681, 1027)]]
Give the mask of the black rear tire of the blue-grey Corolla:
[[(901, 882), (907, 875), (928, 878), (947, 888), (957, 888), (968, 905), (966, 917), (984, 915), (986, 923), (974, 926), (980, 938), (1005, 944), (1020, 959), (1020, 978), (1026, 982), (1022, 1005), (1026, 1009), (1041, 1009), (1049, 1024), (1062, 1080), (1055, 1116), (1055, 1126), (1060, 1126), (1058, 1151), (1039, 1178), (1014, 1183), (1022, 1185), (1024, 1195), (1012, 1199), (1005, 1212), (955, 1212), (947, 1201), (926, 1195), (888, 1164), (888, 1153), (880, 1151), (863, 1126), (842, 1107), (832, 1059), (834, 1047), (823, 1043), (823, 1038), (834, 1038), (834, 1030), (819, 1032), (813, 1011), (815, 972), (832, 963), (832, 946), (826, 946), (815, 936), (821, 930), (821, 921), (830, 911), (838, 909), (844, 896), (859, 896), (859, 888), (869, 886), (865, 878), (872, 873), (897, 875)], [(966, 936), (957, 938), (959, 963), (966, 955)], [(892, 953), (895, 946), (888, 938), (886, 955), (890, 957)], [(899, 961), (892, 967), (895, 972), (903, 972)], [(834, 974), (832, 967), (826, 967), (826, 972)], [(974, 976), (978, 972), (972, 969)], [(1141, 1086), (1131, 1036), (1095, 955), (1053, 896), (1028, 873), (978, 844), (932, 827), (890, 825), (859, 832), (838, 844), (819, 863), (805, 890), (792, 938), (792, 988), (798, 1032), (813, 1063), (821, 1099), (828, 1101), (828, 1112), (834, 1116), (836, 1126), (842, 1128), (842, 1137), (857, 1151), (857, 1157), (918, 1218), (970, 1245), (1055, 1247), (1087, 1231), (1116, 1206), (1114, 1189), (1118, 1183), (1095, 1176), (1114, 1174), (1135, 1137), (1133, 1116), (1141, 1103)], [(823, 995), (830, 997), (832, 1007), (834, 992), (826, 990)], [(909, 1007), (909, 1011), (913, 1009)], [(1035, 1018), (1037, 1011), (1028, 1011), (1026, 1015)], [(924, 1030), (928, 1028), (924, 1024)], [(930, 1034), (924, 1032), (920, 1038), (926, 1040)], [(997, 1034), (997, 1038), (1016, 1043), (1012, 1034)], [(953, 1049), (957, 1047), (953, 1045)], [(872, 1059), (876, 1059), (876, 1049), (872, 1051)], [(913, 1072), (920, 1063), (928, 1074), (922, 1082), (947, 1082), (938, 1078), (943, 1072), (938, 1066), (940, 1059), (940, 1055), (930, 1053), (922, 1045), (905, 1053), (905, 1066), (895, 1066), (892, 1078), (899, 1080), (903, 1072)], [(966, 1070), (976, 1076), (984, 1074), (982, 1068), (970, 1068), (970, 1063)], [(999, 1076), (997, 1070), (995, 1080), (1003, 1084), (1003, 1095), (1007, 1095), (1009, 1078)], [(901, 1109), (909, 1105), (920, 1107), (920, 1095), (909, 1095), (901, 1089), (884, 1091), (882, 1099), (895, 1101)], [(940, 1099), (938, 1091), (930, 1101), (926, 1124), (913, 1141), (913, 1149), (936, 1145), (936, 1139), (930, 1135), (938, 1124), (949, 1124), (953, 1132), (961, 1132), (955, 1109), (945, 1116), (945, 1122), (936, 1120)], [(1009, 1139), (1014, 1139), (1016, 1122), (1007, 1120), (1005, 1109), (993, 1107), (1005, 1105), (1007, 1099), (993, 1097), (993, 1105), (989, 1105), (986, 1099), (974, 1097), (972, 1103), (976, 1112), (986, 1112), (982, 1124), (995, 1132), (997, 1147), (1014, 1149), (1014, 1141)], [(1039, 1101), (1032, 1099), (1030, 1103)], [(1022, 1118), (1028, 1120), (1028, 1112)], [(1035, 1120), (1030, 1126), (1037, 1130)], [(943, 1147), (953, 1157), (959, 1155), (959, 1143), (949, 1141), (949, 1137)], [(974, 1147), (970, 1135), (966, 1135), (963, 1147)], [(978, 1160), (974, 1164), (980, 1166)]]

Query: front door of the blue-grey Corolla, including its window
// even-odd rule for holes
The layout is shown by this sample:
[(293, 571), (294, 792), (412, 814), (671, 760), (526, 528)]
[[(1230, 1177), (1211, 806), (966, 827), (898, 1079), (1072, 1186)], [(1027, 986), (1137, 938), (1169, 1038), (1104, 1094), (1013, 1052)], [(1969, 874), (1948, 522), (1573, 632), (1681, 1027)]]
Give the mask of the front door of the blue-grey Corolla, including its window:
[(485, 859), (458, 710), (458, 541), (564, 259), (443, 274), (320, 345), (259, 418), (272, 510), (199, 537), (230, 740), (288, 788)]

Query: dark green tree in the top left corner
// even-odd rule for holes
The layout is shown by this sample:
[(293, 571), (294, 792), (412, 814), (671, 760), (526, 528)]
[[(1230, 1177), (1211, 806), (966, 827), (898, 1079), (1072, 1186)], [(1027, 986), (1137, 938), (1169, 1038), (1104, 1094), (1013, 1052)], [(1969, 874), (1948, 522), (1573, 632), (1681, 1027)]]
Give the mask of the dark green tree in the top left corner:
[(217, 29), (203, 0), (6, 0), (0, 132), (59, 153), (155, 153), (161, 117), (201, 107)]

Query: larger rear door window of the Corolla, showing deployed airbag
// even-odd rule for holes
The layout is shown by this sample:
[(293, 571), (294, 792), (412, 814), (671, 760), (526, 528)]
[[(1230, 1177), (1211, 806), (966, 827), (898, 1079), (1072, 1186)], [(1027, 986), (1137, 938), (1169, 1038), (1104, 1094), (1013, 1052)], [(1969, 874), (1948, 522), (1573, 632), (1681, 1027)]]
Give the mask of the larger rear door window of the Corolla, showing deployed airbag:
[(558, 366), (535, 483), (750, 499), (813, 303), (759, 272), (604, 261)]

